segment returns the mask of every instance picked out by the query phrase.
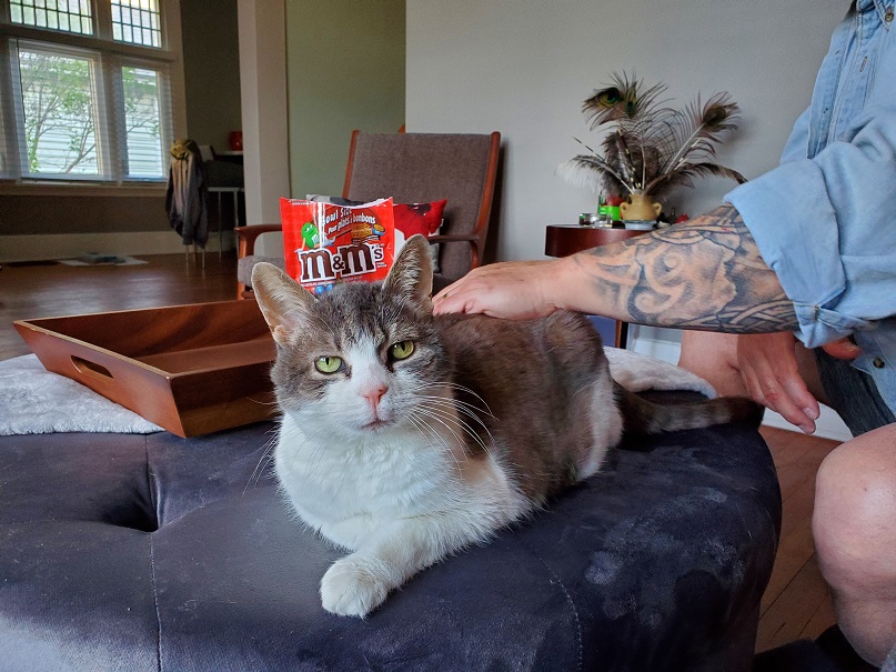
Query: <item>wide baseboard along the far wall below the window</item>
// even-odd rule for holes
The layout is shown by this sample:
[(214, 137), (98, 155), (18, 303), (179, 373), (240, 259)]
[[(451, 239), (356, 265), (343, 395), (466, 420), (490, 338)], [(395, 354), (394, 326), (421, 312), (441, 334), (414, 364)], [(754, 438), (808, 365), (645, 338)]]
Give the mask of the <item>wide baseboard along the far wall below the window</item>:
[[(209, 237), (207, 251), (218, 252), (218, 238), (217, 232)], [(232, 231), (224, 231), (223, 249), (234, 249)], [(183, 243), (173, 231), (0, 235), (0, 262), (69, 259), (88, 252), (132, 257), (182, 254)]]

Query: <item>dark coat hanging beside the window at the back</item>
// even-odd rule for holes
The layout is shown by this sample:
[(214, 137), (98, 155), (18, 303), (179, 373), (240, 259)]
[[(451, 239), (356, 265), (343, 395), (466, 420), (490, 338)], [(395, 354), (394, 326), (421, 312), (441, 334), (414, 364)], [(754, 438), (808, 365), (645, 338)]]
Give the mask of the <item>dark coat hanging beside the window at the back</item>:
[(195, 243), (205, 249), (209, 240), (208, 184), (199, 146), (192, 140), (178, 140), (169, 153), (165, 210), (171, 228), (183, 238), (183, 244)]

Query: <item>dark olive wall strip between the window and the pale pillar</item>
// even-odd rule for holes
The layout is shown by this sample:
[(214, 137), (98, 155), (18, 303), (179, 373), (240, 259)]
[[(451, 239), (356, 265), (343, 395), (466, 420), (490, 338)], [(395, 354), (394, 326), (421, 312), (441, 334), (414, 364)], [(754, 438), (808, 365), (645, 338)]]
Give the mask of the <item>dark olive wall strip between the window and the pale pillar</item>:
[(187, 132), (199, 144), (229, 150), (241, 128), (236, 0), (181, 0)]

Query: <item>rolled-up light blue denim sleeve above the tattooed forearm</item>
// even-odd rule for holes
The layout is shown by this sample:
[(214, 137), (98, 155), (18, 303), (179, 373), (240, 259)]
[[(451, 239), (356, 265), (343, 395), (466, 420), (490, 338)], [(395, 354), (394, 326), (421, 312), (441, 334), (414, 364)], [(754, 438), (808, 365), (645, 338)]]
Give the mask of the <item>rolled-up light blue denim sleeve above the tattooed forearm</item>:
[(794, 302), (808, 347), (896, 314), (896, 109), (850, 142), (794, 159), (725, 197)]

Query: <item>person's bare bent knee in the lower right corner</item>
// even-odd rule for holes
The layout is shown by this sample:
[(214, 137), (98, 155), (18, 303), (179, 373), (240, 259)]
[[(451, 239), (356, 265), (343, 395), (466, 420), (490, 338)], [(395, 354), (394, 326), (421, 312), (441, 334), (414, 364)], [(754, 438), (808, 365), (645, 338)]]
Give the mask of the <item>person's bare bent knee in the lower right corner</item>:
[(896, 424), (834, 450), (815, 484), (813, 534), (837, 623), (865, 660), (896, 644)]

